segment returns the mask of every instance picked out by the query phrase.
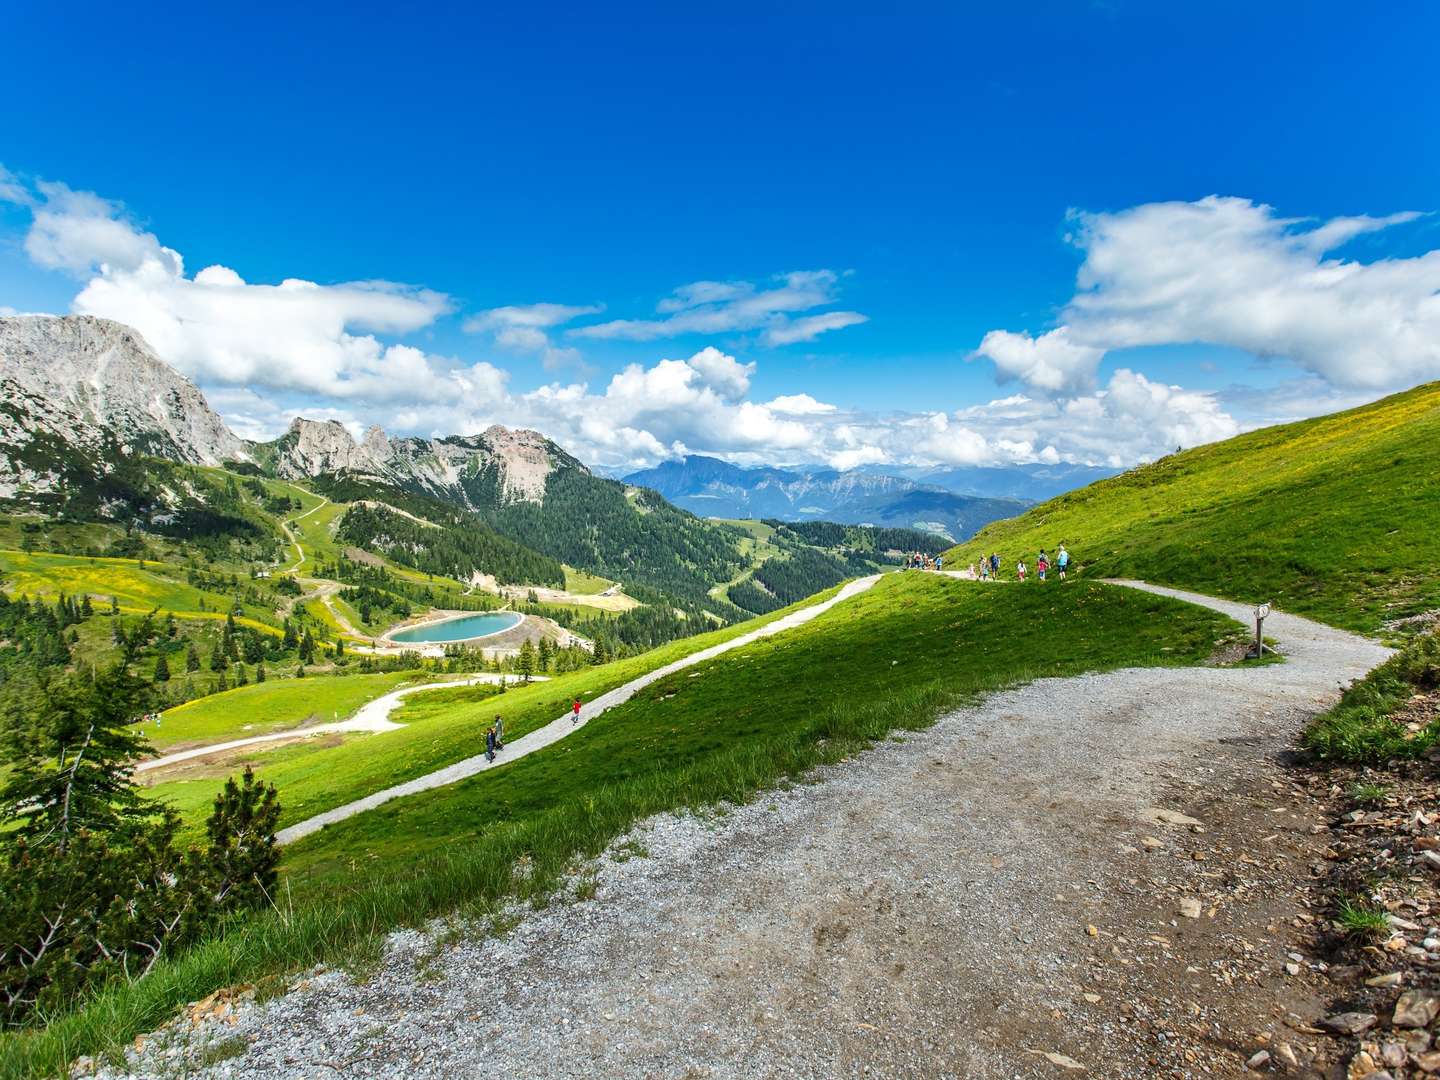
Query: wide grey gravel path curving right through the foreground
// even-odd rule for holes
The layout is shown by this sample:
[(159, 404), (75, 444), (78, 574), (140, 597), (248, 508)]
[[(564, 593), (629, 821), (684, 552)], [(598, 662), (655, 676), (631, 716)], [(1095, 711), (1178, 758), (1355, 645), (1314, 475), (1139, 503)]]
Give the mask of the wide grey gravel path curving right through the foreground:
[[(1139, 838), (1184, 827), (1156, 812), (1191, 802), (1179, 773), (1195, 801), (1212, 793), (1221, 756), (1254, 768), (1236, 740), (1289, 739), (1387, 655), (1295, 616), (1266, 626), (1287, 662), (1040, 680), (814, 785), (654, 818), (599, 861), (593, 900), (503, 937), (392, 935), (369, 979), (325, 972), (215, 1025), (236, 1056), (193, 1074), (1066, 1074), (1037, 1054), (1051, 1051), (1092, 1076), (1153, 1076), (1116, 1064), (1117, 1027), (1081, 1034), (1086, 924), (1123, 917)], [(156, 1040), (132, 1064), (153, 1074), (197, 1048), (168, 1053)]]

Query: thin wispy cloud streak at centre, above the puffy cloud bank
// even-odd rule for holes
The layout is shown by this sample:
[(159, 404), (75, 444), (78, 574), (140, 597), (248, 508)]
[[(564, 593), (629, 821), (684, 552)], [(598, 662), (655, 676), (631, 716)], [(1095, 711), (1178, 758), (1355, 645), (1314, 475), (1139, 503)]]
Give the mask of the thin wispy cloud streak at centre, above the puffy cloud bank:
[(827, 311), (793, 318), (795, 312), (828, 307), (838, 300), (841, 275), (829, 269), (780, 274), (770, 288), (749, 281), (696, 281), (681, 285), (655, 305), (664, 318), (615, 318), (570, 330), (572, 337), (654, 341), (681, 334), (724, 334), (762, 330), (770, 346), (812, 341), (829, 330), (864, 323), (858, 311)]

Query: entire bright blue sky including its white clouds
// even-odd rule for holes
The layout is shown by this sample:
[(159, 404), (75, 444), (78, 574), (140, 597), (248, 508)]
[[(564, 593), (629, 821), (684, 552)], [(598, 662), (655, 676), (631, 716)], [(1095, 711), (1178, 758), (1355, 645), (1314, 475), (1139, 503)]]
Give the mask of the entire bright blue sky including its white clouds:
[[(606, 464), (1129, 464), (1440, 377), (1434, 6), (769, 7), (22, 6), (0, 307), (134, 321), (245, 433), (533, 423)], [(1313, 238), (1356, 216), (1384, 223)], [(154, 243), (117, 262), (101, 217)], [(186, 297), (140, 281), (156, 249)], [(1325, 292), (1326, 262), (1368, 284)], [(212, 265), (236, 275), (203, 289), (220, 330), (167, 333)], [(297, 278), (418, 307), (351, 291), (264, 343), (213, 311)], [(694, 282), (729, 291), (677, 298)], [(685, 311), (708, 328), (634, 325)], [(729, 364), (690, 363), (707, 347)]]

